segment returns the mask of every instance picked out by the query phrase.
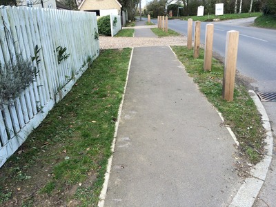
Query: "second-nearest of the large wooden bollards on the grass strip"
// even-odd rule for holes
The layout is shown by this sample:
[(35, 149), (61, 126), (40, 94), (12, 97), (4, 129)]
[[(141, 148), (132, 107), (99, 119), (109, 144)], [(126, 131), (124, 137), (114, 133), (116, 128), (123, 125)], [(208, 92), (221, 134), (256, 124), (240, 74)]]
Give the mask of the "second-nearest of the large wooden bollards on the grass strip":
[(208, 23), (206, 24), (206, 34), (205, 34), (204, 70), (211, 70), (212, 68), (213, 37), (214, 37), (214, 25), (213, 23)]

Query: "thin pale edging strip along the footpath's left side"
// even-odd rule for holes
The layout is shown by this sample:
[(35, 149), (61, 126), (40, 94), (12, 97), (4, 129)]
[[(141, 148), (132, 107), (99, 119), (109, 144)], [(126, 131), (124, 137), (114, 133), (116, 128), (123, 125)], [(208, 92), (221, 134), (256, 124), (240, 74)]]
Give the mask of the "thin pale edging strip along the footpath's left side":
[(115, 124), (114, 138), (113, 138), (112, 146), (111, 146), (112, 155), (108, 159), (108, 166), (106, 168), (106, 173), (104, 175), (103, 188), (101, 189), (101, 194), (99, 195), (98, 207), (103, 207), (104, 206), (104, 201), (106, 199), (106, 193), (107, 193), (107, 190), (108, 190), (108, 181), (109, 181), (110, 171), (111, 171), (111, 166), (112, 166), (112, 159), (113, 159), (113, 154), (114, 154), (114, 150), (115, 150), (116, 137), (117, 137), (119, 122), (120, 122), (120, 118), (121, 118), (121, 111), (123, 109), (124, 99), (125, 99), (125, 95), (126, 95), (126, 86), (128, 85), (128, 77), (129, 77), (129, 72), (130, 72), (130, 65), (131, 65), (131, 61), (132, 61), (132, 56), (133, 56), (133, 50), (134, 50), (134, 48), (132, 48), (132, 50), (131, 50), (130, 61), (128, 63), (128, 72), (126, 74), (126, 84), (125, 84), (125, 87), (124, 87), (124, 93), (123, 93), (123, 96), (122, 96), (122, 99), (121, 99), (121, 103), (120, 103), (119, 111), (118, 111), (118, 117), (117, 117), (117, 121), (116, 121), (116, 124)]

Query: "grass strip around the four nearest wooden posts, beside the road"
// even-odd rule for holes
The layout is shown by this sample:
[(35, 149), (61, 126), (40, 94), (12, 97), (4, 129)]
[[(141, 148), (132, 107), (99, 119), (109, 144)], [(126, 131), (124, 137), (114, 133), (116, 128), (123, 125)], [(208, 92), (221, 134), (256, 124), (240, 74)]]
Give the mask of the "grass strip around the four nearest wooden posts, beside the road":
[(183, 46), (173, 46), (178, 59), (184, 64), (186, 71), (198, 84), (208, 101), (221, 112), (225, 121), (235, 133), (242, 153), (247, 155), (251, 163), (256, 164), (262, 159), (265, 132), (254, 101), (248, 95), (245, 86), (236, 84), (234, 101), (222, 99), (222, 80), (224, 66), (213, 59), (212, 71), (203, 70), (204, 51), (198, 59), (193, 58), (193, 50)]

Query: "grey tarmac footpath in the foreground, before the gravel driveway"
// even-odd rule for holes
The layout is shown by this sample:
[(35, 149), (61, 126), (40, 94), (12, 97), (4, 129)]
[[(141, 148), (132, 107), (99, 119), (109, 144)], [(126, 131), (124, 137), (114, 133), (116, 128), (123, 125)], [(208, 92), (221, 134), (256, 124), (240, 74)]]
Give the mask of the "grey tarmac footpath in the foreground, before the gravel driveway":
[(105, 206), (228, 206), (234, 144), (169, 47), (134, 48)]

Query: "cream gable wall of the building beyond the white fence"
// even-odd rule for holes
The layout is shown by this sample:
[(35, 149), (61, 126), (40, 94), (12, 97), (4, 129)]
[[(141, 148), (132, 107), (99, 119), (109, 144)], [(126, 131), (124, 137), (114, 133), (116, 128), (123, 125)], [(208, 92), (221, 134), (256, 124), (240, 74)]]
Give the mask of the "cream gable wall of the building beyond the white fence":
[(86, 0), (83, 2), (83, 5), (79, 10), (88, 11), (88, 10), (113, 10), (117, 9), (118, 14), (121, 13), (121, 7), (115, 0)]

